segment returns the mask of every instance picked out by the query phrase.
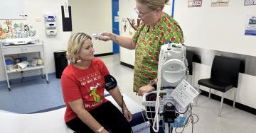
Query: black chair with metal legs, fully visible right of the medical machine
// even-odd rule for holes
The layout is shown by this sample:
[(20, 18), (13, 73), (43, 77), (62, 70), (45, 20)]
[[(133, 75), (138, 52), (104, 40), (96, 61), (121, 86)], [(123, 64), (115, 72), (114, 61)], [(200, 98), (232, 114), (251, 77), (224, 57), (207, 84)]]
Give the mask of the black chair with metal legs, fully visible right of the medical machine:
[(216, 91), (222, 92), (218, 116), (221, 116), (224, 94), (231, 88), (235, 88), (233, 100), (233, 108), (235, 108), (235, 98), (237, 92), (236, 88), (238, 87), (240, 64), (240, 59), (233, 59), (216, 55), (213, 59), (210, 79), (200, 79), (198, 81), (198, 88), (200, 88), (200, 86), (206, 86), (210, 88), (209, 98), (212, 88)]

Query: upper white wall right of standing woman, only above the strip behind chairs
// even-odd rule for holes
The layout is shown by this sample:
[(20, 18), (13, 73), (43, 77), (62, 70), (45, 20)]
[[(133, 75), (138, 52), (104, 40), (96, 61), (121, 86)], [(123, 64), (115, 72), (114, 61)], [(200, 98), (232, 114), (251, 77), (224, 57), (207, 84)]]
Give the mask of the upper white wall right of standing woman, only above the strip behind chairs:
[(243, 6), (244, 1), (229, 1), (228, 6), (188, 8), (188, 1), (175, 2), (174, 18), (181, 25), (185, 44), (256, 56), (256, 37), (245, 35), (247, 15), (256, 15), (256, 6)]

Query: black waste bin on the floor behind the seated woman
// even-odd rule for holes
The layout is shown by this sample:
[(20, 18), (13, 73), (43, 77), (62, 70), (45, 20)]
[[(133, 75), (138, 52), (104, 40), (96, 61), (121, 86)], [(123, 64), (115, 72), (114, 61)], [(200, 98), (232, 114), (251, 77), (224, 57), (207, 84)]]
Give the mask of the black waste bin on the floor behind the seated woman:
[(60, 79), (61, 74), (63, 73), (63, 70), (65, 67), (68, 66), (68, 59), (66, 58), (66, 51), (60, 50), (53, 52), (54, 54), (54, 61), (55, 61), (55, 73), (56, 78)]

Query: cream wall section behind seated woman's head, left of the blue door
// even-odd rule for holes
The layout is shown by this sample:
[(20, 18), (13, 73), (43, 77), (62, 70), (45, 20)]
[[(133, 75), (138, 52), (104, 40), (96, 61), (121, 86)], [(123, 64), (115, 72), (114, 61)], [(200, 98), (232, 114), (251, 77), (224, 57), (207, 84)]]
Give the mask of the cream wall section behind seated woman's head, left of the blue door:
[[(112, 33), (112, 1), (111, 0), (70, 0), (72, 8), (73, 33), (84, 32), (88, 35), (107, 31)], [(110, 53), (112, 41), (92, 40), (95, 54)]]

